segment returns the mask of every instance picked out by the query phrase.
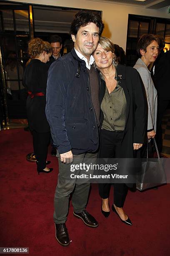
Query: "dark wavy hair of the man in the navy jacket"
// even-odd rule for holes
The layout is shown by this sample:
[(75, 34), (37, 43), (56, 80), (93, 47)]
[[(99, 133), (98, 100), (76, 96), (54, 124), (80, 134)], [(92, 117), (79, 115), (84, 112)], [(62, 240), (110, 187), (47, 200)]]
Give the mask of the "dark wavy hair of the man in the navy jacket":
[(99, 28), (99, 36), (101, 36), (104, 28), (102, 19), (98, 13), (92, 12), (90, 10), (80, 10), (75, 14), (75, 17), (71, 23), (70, 34), (77, 35), (79, 28), (85, 27), (89, 23), (95, 23), (95, 25)]

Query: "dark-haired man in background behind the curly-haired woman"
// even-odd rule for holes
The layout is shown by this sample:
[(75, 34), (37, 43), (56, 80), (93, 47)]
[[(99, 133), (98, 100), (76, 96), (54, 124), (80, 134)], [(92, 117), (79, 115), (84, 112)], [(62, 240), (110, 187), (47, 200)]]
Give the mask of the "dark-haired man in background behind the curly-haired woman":
[(53, 49), (52, 55), (49, 60), (50, 63), (52, 63), (53, 61), (55, 61), (61, 56), (60, 51), (62, 49), (62, 38), (58, 35), (53, 35), (53, 36), (50, 36), (49, 41)]

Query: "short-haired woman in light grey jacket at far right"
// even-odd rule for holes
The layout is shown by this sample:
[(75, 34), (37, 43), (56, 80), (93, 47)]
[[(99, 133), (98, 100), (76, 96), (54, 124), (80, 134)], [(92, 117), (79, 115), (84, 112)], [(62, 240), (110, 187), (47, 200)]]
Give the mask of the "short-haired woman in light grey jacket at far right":
[[(158, 57), (160, 39), (153, 34), (145, 34), (138, 41), (137, 51), (140, 58), (137, 60), (134, 68), (138, 70), (145, 86), (146, 97), (148, 101), (148, 129), (147, 137), (155, 138), (156, 119), (157, 119), (157, 90), (153, 84), (151, 73), (148, 66)], [(150, 141), (149, 141), (150, 142)], [(150, 148), (150, 146), (149, 146)], [(147, 156), (147, 143), (145, 143), (141, 156)]]

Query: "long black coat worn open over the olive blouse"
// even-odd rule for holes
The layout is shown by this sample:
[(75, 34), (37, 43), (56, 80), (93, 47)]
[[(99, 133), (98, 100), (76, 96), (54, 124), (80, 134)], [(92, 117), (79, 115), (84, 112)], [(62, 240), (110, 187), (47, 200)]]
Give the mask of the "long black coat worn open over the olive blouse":
[[(116, 158), (129, 159), (134, 158), (138, 151), (133, 150), (133, 143), (144, 143), (145, 141), (147, 102), (143, 83), (136, 69), (117, 65), (117, 80), (125, 93), (127, 112), (120, 155), (117, 155)], [(105, 90), (105, 81), (101, 79), (101, 83)], [(103, 120), (103, 113), (101, 119)], [(132, 187), (132, 184), (127, 185)]]

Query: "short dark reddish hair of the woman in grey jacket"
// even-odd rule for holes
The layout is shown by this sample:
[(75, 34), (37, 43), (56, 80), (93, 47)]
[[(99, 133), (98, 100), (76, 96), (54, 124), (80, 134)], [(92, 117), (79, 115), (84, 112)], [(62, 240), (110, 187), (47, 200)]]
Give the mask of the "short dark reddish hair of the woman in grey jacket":
[(146, 52), (146, 48), (150, 45), (153, 41), (157, 41), (158, 45), (160, 46), (160, 38), (154, 34), (144, 34), (140, 37), (138, 44), (137, 44), (137, 52), (138, 55), (141, 57), (140, 50), (144, 50)]

